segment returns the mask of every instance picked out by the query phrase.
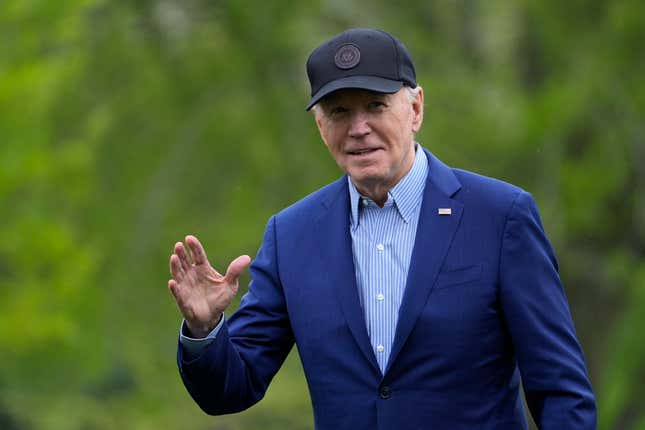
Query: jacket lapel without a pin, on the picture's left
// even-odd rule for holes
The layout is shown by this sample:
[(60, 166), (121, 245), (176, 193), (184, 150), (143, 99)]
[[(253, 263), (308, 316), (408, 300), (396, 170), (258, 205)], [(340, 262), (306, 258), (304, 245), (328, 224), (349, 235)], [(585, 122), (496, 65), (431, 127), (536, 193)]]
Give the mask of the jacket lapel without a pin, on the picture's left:
[(317, 237), (321, 243), (331, 244), (322, 247), (323, 267), (328, 271), (330, 287), (336, 289), (341, 309), (356, 343), (365, 358), (380, 373), (358, 297), (352, 239), (349, 233), (347, 176), (343, 176), (336, 184), (330, 198), (323, 201), (326, 211), (317, 220)]

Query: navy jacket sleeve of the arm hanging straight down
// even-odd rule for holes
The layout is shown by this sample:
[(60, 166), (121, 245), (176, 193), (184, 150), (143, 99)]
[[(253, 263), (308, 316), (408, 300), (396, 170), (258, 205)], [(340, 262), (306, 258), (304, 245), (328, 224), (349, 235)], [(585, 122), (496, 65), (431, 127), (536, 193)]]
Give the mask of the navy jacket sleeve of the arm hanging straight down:
[(506, 221), (500, 277), (502, 309), (538, 428), (595, 429), (596, 403), (557, 262), (526, 192)]

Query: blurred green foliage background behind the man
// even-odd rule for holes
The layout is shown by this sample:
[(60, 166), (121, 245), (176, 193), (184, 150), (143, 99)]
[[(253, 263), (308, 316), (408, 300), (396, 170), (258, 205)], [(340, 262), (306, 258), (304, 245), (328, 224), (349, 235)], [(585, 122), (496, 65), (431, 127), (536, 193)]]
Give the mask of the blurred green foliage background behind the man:
[(312, 428), (295, 353), (249, 411), (192, 402), (168, 257), (253, 255), (339, 176), (304, 64), (356, 26), (412, 52), (423, 145), (535, 195), (599, 428), (645, 429), (641, 0), (1, 1), (0, 429)]

